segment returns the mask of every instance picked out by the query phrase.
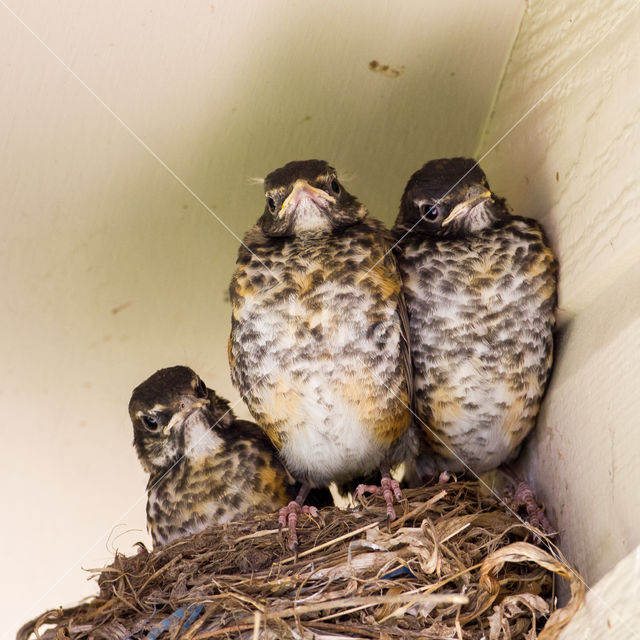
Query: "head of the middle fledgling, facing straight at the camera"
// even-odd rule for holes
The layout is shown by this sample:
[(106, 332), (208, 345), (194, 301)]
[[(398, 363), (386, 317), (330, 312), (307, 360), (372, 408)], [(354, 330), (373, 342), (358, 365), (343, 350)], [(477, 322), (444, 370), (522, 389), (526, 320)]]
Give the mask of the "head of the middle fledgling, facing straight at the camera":
[(266, 203), (259, 224), (268, 236), (331, 232), (367, 214), (324, 160), (289, 162), (265, 178), (264, 191)]

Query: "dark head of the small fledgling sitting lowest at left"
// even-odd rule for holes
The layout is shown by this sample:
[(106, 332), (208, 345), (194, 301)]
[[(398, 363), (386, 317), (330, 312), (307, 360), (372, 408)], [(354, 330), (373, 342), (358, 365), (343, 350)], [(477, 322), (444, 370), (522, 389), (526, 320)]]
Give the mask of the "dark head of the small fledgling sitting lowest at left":
[(229, 403), (208, 389), (189, 367), (160, 369), (138, 385), (129, 401), (133, 444), (145, 471), (166, 469), (182, 456), (196, 457), (229, 426)]

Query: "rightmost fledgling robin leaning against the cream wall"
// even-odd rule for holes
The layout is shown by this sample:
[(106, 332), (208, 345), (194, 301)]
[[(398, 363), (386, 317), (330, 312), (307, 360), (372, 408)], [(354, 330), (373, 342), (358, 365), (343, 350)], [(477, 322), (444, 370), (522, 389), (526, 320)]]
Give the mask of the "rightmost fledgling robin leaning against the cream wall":
[(474, 160), (433, 160), (393, 229), (411, 328), (423, 472), (476, 474), (516, 455), (552, 363), (557, 263), (535, 220), (511, 215)]

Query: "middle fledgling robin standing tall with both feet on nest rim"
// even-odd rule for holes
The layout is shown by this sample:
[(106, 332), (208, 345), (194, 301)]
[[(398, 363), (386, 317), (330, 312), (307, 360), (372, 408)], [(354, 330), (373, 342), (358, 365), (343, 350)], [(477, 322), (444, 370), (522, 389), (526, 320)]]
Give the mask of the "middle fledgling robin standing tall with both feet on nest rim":
[(292, 475), (281, 513), (310, 487), (380, 469), (390, 518), (402, 493), (389, 465), (410, 425), (406, 309), (388, 232), (321, 160), (270, 173), (230, 285), (231, 378)]

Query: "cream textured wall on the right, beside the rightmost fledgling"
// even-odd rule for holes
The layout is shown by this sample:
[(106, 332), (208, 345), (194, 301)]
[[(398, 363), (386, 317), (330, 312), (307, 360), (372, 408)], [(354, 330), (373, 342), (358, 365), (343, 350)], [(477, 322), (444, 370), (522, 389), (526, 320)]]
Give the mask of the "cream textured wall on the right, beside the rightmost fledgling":
[(525, 463), (590, 585), (640, 543), (638, 33), (633, 0), (531, 2), (479, 152), (541, 99), (483, 166), (559, 256), (556, 366)]

